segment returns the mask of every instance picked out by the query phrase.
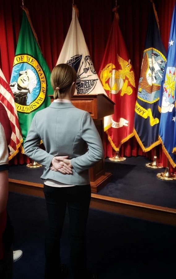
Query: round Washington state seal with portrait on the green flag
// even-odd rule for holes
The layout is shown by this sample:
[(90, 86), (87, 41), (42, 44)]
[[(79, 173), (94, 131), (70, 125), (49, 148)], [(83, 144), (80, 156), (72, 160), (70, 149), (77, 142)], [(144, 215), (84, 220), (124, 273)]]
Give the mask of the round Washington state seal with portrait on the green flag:
[(32, 55), (15, 56), (10, 87), (18, 112), (31, 113), (43, 104), (47, 88), (46, 77)]

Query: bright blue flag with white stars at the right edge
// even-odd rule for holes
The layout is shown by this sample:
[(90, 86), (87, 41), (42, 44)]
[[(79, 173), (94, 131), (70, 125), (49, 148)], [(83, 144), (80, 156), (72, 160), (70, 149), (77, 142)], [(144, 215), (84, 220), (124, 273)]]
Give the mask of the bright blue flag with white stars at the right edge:
[(176, 125), (175, 125), (175, 74), (176, 74), (176, 6), (172, 16), (167, 62), (161, 83), (159, 108), (161, 120), (159, 137), (170, 164), (176, 167)]

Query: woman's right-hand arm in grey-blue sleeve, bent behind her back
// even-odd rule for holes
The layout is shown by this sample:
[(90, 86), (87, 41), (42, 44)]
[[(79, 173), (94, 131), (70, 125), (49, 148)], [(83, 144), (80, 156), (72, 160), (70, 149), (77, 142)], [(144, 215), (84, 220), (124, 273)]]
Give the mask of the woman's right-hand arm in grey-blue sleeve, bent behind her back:
[[(71, 165), (77, 173), (89, 169), (104, 158), (104, 150), (100, 135), (88, 112), (85, 112), (82, 118), (81, 137), (88, 144), (88, 152), (82, 156), (71, 159)], [(63, 162), (66, 161), (64, 160)]]

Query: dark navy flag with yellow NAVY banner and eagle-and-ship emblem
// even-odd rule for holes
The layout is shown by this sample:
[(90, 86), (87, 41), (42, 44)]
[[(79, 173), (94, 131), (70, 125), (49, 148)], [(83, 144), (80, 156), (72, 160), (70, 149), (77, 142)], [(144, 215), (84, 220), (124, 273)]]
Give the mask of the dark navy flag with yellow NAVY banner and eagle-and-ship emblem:
[(134, 133), (144, 152), (160, 144), (158, 102), (166, 61), (154, 3), (152, 6), (135, 104)]

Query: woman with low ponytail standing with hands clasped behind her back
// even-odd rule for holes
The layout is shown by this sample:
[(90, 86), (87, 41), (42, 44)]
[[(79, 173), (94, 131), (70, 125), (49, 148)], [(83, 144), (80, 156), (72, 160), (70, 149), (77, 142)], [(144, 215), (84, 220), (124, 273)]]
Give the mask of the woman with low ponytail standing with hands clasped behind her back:
[[(59, 64), (53, 69), (54, 101), (35, 114), (24, 144), (25, 154), (45, 166), (41, 176), (49, 216), (45, 279), (61, 278), (60, 237), (66, 206), (74, 278), (91, 278), (86, 269), (85, 237), (91, 197), (88, 169), (104, 157), (104, 152), (90, 114), (71, 103), (76, 79), (75, 70), (67, 64)], [(46, 151), (39, 147), (41, 140)]]

